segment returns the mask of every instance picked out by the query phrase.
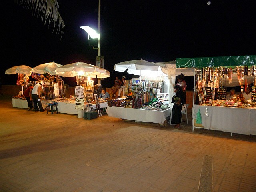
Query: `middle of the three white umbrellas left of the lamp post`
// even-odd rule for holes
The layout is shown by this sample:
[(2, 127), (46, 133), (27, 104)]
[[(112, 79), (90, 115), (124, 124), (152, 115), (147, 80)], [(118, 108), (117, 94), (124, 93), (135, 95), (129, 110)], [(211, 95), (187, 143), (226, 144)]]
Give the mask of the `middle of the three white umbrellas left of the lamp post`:
[(34, 67), (32, 69), (32, 71), (34, 73), (39, 73), (39, 74), (48, 73), (51, 75), (58, 75), (58, 74), (56, 74), (55, 70), (56, 70), (56, 68), (61, 67), (61, 66), (62, 66), (61, 64), (54, 63), (54, 62), (44, 63), (44, 64), (40, 64), (40, 65)]

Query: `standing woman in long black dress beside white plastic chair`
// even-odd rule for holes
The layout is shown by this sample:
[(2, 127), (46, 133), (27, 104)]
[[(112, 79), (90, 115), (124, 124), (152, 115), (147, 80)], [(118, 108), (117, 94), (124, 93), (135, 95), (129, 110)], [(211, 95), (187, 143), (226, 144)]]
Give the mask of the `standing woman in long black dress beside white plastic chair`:
[(174, 96), (172, 98), (172, 103), (174, 103), (172, 107), (172, 120), (171, 124), (176, 124), (174, 128), (180, 128), (181, 123), (181, 109), (182, 109), (182, 101), (184, 98), (184, 93), (179, 85), (174, 86)]

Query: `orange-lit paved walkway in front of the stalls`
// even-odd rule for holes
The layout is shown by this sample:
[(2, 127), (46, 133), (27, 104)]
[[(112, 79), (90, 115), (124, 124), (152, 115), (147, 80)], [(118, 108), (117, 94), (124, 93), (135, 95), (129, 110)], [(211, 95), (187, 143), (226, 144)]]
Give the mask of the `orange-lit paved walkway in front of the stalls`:
[(211, 185), (204, 167), (214, 192), (256, 191), (256, 137), (192, 132), (191, 115), (174, 129), (32, 112), (4, 96), (0, 109), (1, 192), (197, 192)]

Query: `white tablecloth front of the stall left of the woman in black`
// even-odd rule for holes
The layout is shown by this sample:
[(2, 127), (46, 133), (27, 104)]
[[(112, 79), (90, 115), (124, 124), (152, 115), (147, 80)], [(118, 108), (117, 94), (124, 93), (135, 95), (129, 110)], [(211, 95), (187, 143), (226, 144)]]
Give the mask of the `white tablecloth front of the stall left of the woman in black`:
[(165, 118), (170, 116), (171, 109), (164, 111), (133, 109), (125, 107), (108, 107), (106, 112), (110, 117), (164, 124)]

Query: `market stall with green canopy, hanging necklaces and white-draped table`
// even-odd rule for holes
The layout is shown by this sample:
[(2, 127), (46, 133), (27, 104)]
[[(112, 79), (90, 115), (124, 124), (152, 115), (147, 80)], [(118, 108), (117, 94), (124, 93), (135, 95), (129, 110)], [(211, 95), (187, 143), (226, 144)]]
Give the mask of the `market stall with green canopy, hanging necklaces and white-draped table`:
[[(205, 128), (231, 134), (256, 134), (255, 63), (256, 55), (176, 60), (177, 68), (195, 69), (193, 131)], [(227, 100), (227, 87), (234, 86), (240, 86), (238, 96)], [(252, 89), (248, 100), (243, 98), (246, 89)]]

